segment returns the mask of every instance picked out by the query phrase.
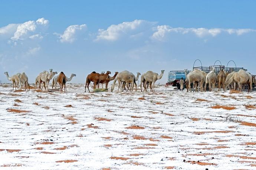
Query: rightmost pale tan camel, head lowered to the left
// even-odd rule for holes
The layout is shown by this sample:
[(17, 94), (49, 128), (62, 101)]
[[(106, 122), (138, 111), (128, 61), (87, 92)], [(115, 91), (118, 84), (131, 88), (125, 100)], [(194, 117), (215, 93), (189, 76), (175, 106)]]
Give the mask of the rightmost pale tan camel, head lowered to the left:
[(234, 81), (234, 87), (235, 82), (239, 86), (239, 90), (242, 92), (242, 84), (248, 83), (248, 93), (252, 92), (252, 76), (245, 72), (243, 69), (240, 69), (238, 72), (235, 72), (229, 79), (226, 79), (224, 83), (224, 87), (227, 87), (230, 83)]

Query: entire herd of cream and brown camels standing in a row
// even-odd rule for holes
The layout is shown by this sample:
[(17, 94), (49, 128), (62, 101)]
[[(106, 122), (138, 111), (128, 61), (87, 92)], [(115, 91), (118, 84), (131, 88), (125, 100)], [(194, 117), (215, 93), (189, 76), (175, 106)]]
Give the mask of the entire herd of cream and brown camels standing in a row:
[[(26, 91), (26, 89), (28, 89), (28, 91), (30, 90), (28, 77), (25, 74), (25, 72), (14, 74), (11, 77), (8, 75), (8, 72), (4, 72), (4, 74), (6, 74), (6, 77), (9, 81), (12, 81), (13, 89), (15, 86), (15, 90), (16, 90), (17, 85), (19, 85), (19, 88), (21, 89), (21, 84), (22, 84), (24, 91)], [(105, 83), (106, 84), (105, 87), (107, 89), (108, 83), (113, 80), (114, 82), (111, 86), (111, 92), (113, 92), (115, 88), (116, 81), (118, 81), (118, 91), (119, 89), (121, 89), (121, 91), (124, 91), (124, 90), (133, 91), (134, 86), (135, 86), (135, 91), (137, 91), (136, 81), (138, 81), (140, 75), (141, 75), (141, 83), (140, 83), (141, 92), (142, 92), (142, 83), (143, 83), (144, 91), (147, 92), (148, 85), (150, 85), (150, 91), (154, 92), (155, 82), (158, 79), (161, 79), (163, 77), (164, 70), (161, 70), (160, 75), (152, 71), (147, 71), (144, 74), (140, 74), (140, 72), (137, 72), (137, 76), (135, 76), (134, 74), (132, 74), (132, 72), (129, 72), (127, 70), (122, 72), (115, 72), (115, 75), (112, 77), (109, 76), (109, 74), (111, 74), (110, 71), (107, 71), (106, 73), (101, 73), (101, 74), (93, 71), (91, 74), (89, 74), (86, 77), (85, 92), (86, 92), (86, 87), (90, 92), (89, 90), (90, 82), (93, 82), (93, 88), (96, 88), (97, 85), (99, 88), (99, 84), (102, 84), (102, 87), (103, 87), (103, 84)], [(208, 74), (198, 69), (194, 69), (193, 71), (187, 73), (187, 69), (185, 69), (185, 74), (186, 74), (185, 84), (187, 86), (187, 92), (188, 92), (188, 89), (190, 89), (190, 92), (191, 92), (192, 83), (193, 83), (193, 89), (196, 88), (196, 92), (197, 92), (197, 84), (198, 84), (198, 92), (199, 92), (199, 89), (201, 92), (203, 92), (203, 89), (204, 91), (206, 91), (207, 84), (209, 84), (210, 91), (214, 89), (214, 86), (216, 84), (219, 85), (219, 91), (221, 87), (224, 90), (228, 86), (230, 86), (230, 89), (236, 89), (236, 84), (238, 85), (239, 90), (242, 91), (242, 84), (244, 83), (248, 84), (249, 86), (248, 92), (252, 91), (252, 76), (242, 69), (239, 70), (238, 72), (233, 71), (231, 73), (225, 72), (223, 69), (221, 69), (218, 75), (215, 74), (213, 67), (211, 68), (211, 71)], [(57, 83), (59, 83), (60, 91), (63, 91), (63, 88), (64, 88), (64, 91), (66, 92), (66, 82), (71, 81), (74, 76), (76, 76), (76, 74), (71, 74), (70, 78), (68, 78), (63, 72), (60, 72), (58, 74), (57, 72), (53, 72), (52, 69), (50, 69), (50, 72), (48, 71), (40, 72), (40, 74), (36, 77), (35, 89), (37, 84), (39, 84), (38, 89), (42, 90), (41, 83), (43, 83), (45, 91), (48, 92), (49, 82), (53, 78), (52, 89), (53, 87), (55, 87), (56, 89), (56, 85)]]

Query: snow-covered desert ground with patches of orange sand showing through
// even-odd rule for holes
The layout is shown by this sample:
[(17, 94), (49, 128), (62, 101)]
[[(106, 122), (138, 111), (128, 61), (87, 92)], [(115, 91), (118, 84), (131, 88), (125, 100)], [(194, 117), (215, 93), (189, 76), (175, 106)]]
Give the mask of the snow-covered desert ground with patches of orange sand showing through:
[(67, 89), (0, 85), (0, 169), (256, 169), (256, 92)]

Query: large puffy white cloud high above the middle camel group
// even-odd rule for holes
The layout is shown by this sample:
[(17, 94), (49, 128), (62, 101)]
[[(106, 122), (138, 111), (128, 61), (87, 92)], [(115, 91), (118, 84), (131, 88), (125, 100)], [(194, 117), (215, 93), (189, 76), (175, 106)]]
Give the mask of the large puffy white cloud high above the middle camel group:
[(140, 35), (145, 30), (151, 29), (155, 22), (145, 21), (145, 20), (134, 20), (131, 22), (123, 22), (118, 25), (111, 25), (107, 30), (99, 29), (96, 41), (98, 40), (108, 40), (116, 41), (124, 35), (133, 37), (134, 35)]

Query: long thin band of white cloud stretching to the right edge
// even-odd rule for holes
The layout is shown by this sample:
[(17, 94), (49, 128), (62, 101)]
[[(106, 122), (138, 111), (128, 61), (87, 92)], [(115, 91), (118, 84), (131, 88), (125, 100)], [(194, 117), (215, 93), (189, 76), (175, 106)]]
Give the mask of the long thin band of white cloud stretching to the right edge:
[(256, 32), (256, 30), (253, 29), (224, 29), (224, 28), (173, 28), (167, 25), (163, 26), (157, 26), (156, 31), (153, 33), (152, 37), (155, 40), (158, 41), (164, 41), (165, 37), (168, 33), (181, 33), (181, 34), (187, 34), (187, 33), (194, 33), (198, 37), (202, 38), (205, 36), (212, 36), (215, 37), (216, 35), (220, 33), (228, 33), (228, 34), (237, 34), (242, 35), (250, 32)]

